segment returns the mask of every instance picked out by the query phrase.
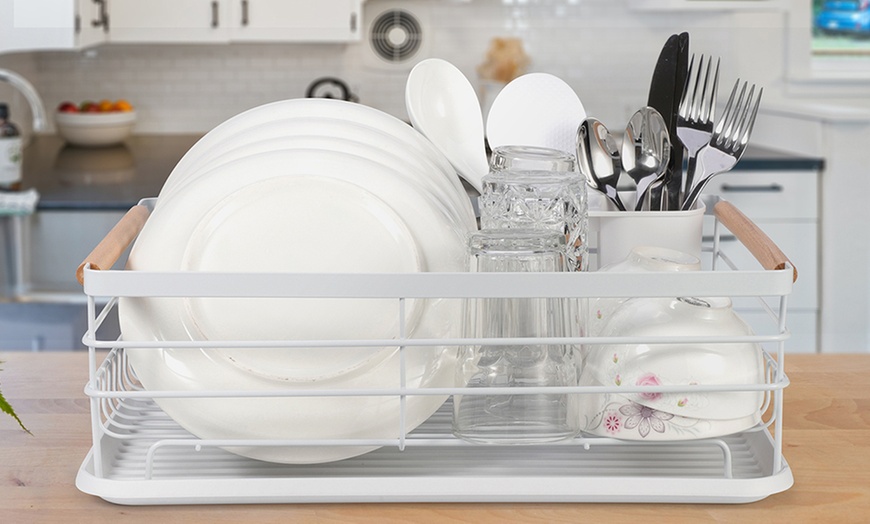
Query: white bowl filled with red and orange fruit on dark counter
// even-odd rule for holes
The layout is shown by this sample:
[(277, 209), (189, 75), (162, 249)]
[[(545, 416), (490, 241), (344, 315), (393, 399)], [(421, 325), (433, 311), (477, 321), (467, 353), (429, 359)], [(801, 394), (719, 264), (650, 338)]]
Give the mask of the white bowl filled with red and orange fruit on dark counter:
[(136, 124), (136, 111), (126, 100), (63, 102), (54, 116), (57, 131), (70, 144), (111, 146), (124, 141)]

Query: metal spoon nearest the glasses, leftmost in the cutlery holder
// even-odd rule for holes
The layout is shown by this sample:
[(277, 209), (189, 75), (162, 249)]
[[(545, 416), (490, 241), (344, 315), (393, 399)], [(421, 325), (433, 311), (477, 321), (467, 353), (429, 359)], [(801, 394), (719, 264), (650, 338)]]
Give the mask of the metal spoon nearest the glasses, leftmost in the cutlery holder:
[(625, 204), (616, 191), (622, 173), (616, 139), (598, 119), (588, 117), (577, 128), (577, 165), (587, 183), (604, 193), (620, 211)]

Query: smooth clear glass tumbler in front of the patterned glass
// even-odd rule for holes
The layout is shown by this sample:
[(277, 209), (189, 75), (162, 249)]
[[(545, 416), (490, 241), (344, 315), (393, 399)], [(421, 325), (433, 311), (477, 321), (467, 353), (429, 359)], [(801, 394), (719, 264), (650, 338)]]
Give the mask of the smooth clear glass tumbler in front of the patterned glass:
[[(565, 236), (541, 230), (482, 230), (469, 240), (472, 272), (567, 271)], [(468, 338), (564, 337), (575, 334), (573, 301), (563, 298), (468, 299)], [(453, 432), (478, 443), (533, 444), (574, 437), (580, 429), (576, 394), (529, 387), (576, 386), (579, 349), (564, 343), (480, 344), (460, 348), (462, 387), (515, 392), (455, 395)]]

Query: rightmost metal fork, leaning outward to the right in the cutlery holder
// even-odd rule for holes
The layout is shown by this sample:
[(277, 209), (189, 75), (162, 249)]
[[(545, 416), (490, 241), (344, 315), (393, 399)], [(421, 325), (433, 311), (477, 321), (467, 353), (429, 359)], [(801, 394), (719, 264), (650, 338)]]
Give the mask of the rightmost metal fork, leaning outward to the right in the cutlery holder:
[[(748, 95), (746, 94), (747, 85), (748, 82), (743, 82), (738, 96), (740, 79), (738, 78), (737, 82), (734, 83), (722, 117), (716, 122), (716, 127), (710, 136), (710, 143), (698, 152), (697, 161), (701, 176), (698, 177), (695, 186), (683, 200), (683, 211), (687, 211), (695, 205), (698, 196), (710, 179), (719, 173), (729, 171), (746, 151), (749, 135), (752, 134), (752, 127), (755, 125), (755, 116), (758, 114), (758, 104), (761, 102), (761, 94), (764, 91), (764, 89), (759, 89), (758, 96), (753, 99), (755, 84), (749, 89)], [(737, 97), (736, 104), (735, 96)]]

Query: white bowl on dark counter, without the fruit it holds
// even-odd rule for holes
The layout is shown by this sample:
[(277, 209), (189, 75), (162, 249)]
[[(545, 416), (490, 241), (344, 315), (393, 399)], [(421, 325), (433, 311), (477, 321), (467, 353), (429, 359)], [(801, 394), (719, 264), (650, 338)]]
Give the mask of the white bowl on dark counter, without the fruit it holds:
[(61, 113), (54, 116), (57, 131), (70, 144), (86, 147), (123, 142), (136, 124), (135, 111)]

